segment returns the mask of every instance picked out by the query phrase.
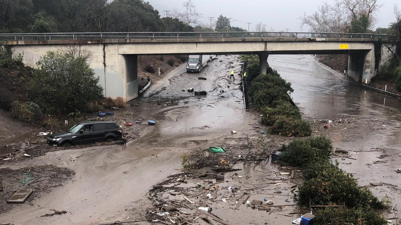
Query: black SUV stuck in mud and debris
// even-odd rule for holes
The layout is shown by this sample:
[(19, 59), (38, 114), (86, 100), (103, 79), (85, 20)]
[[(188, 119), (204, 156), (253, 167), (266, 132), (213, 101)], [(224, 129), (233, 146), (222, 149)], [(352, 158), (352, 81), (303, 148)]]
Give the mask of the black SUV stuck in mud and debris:
[(77, 123), (66, 132), (50, 135), (47, 143), (53, 146), (69, 147), (100, 141), (117, 141), (122, 139), (121, 128), (110, 121), (89, 121)]

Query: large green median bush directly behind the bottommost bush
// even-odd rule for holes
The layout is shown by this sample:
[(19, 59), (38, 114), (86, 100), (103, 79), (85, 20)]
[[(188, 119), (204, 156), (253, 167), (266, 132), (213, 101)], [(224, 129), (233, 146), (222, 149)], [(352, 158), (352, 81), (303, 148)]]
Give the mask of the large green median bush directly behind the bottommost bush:
[[(302, 153), (299, 153), (300, 155)], [(303, 205), (343, 205), (365, 209), (386, 209), (387, 198), (379, 201), (366, 187), (358, 187), (351, 174), (325, 161), (315, 161), (304, 172), (305, 181), (298, 187), (295, 199)]]

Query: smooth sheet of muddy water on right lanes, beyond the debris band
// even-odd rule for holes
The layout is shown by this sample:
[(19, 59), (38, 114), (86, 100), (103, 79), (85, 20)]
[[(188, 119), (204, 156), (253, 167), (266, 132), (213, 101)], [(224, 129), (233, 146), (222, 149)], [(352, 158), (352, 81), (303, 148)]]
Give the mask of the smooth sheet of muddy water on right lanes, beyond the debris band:
[[(348, 83), (346, 75), (318, 63), (310, 55), (270, 55), (268, 63), (292, 83), (294, 102), (308, 117), (375, 117), (401, 121), (401, 101)], [(393, 111), (390, 111), (392, 109)]]

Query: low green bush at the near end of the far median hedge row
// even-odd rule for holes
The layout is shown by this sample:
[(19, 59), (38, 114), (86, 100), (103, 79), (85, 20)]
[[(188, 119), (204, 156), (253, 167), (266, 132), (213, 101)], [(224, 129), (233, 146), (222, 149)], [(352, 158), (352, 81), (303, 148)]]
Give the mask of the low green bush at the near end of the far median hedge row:
[(308, 137), (312, 133), (307, 121), (283, 115), (275, 116), (271, 132), (287, 137)]

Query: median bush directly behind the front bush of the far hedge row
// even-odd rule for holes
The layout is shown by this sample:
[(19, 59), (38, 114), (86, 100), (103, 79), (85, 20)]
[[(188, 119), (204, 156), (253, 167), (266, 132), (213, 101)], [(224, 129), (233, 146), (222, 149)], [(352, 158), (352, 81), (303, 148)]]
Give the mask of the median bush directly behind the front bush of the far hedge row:
[(274, 108), (261, 108), (262, 123), (267, 126), (272, 126), (277, 120), (277, 116), (286, 116), (288, 118), (301, 119), (301, 112), (290, 102), (279, 101), (279, 104)]

